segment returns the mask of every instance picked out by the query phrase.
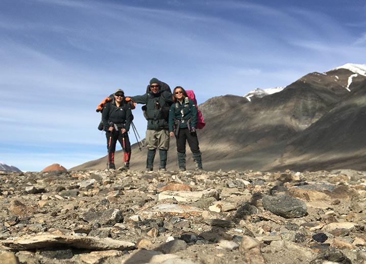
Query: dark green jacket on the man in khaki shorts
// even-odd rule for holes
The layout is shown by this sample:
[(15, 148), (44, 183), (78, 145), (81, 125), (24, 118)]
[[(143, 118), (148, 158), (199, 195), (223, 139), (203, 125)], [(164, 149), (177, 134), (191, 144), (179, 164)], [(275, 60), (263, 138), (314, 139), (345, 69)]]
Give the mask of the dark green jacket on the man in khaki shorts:
[[(168, 121), (163, 114), (163, 110), (173, 103), (172, 93), (168, 91), (159, 91), (157, 94), (149, 92), (144, 95), (130, 96), (130, 98), (136, 103), (146, 104), (148, 130), (168, 129)], [(155, 107), (157, 102), (159, 103), (158, 109)]]

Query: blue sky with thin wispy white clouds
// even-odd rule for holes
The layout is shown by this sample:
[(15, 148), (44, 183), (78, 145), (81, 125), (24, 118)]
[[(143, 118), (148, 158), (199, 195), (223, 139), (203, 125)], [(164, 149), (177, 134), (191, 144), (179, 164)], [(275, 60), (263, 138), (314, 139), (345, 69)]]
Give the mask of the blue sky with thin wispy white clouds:
[(99, 159), (96, 106), (116, 89), (143, 94), (152, 77), (203, 103), (365, 64), (365, 13), (366, 0), (1, 0), (0, 161)]

